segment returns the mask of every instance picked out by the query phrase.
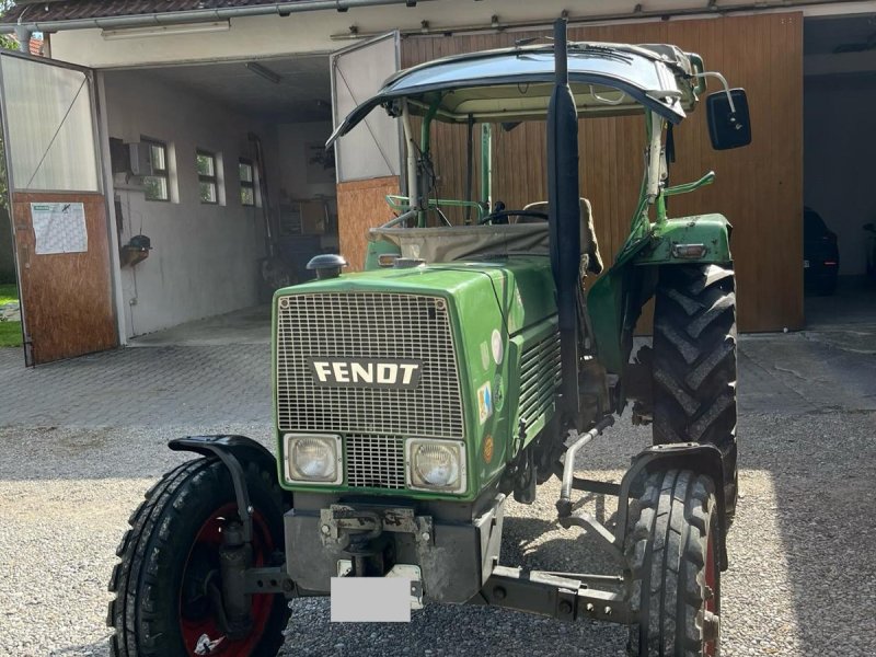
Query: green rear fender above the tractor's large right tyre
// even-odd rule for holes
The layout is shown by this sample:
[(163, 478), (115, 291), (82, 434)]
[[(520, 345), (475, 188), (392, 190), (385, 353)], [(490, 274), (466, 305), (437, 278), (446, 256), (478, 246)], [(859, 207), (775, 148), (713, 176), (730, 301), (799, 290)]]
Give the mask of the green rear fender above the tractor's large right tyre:
[[(667, 219), (654, 227), (647, 245), (633, 258), (634, 265), (671, 265), (733, 262), (733, 226), (724, 215), (698, 215)], [(685, 247), (702, 247), (702, 255), (685, 253)]]

